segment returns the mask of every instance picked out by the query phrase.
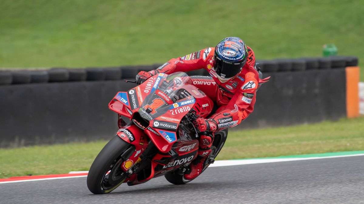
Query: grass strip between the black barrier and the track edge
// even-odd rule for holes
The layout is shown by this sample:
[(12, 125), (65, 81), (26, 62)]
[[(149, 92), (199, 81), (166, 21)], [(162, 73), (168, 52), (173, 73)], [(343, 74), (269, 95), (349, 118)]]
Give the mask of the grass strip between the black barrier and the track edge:
[[(310, 125), (230, 131), (217, 159), (364, 150), (363, 124), (364, 117), (360, 117)], [(0, 178), (88, 170), (106, 143), (0, 149)]]

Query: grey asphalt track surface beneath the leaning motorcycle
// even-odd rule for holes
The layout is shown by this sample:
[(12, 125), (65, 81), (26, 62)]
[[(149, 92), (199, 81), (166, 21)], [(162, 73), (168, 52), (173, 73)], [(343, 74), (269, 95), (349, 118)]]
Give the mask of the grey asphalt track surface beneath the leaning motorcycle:
[(0, 184), (0, 203), (364, 203), (364, 156), (207, 168), (93, 195), (86, 177)]

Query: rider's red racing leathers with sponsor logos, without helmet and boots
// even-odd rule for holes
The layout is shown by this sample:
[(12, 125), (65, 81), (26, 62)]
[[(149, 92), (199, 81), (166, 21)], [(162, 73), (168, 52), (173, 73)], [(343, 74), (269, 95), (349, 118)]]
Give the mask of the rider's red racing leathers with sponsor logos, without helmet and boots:
[(209, 119), (217, 123), (218, 130), (234, 127), (252, 113), (256, 101), (258, 83), (264, 82), (260, 81), (258, 72), (254, 68), (254, 52), (249, 47), (247, 48), (248, 59), (241, 73), (225, 83), (219, 81), (215, 71), (212, 69), (215, 48), (206, 48), (183, 57), (171, 59), (149, 73), (152, 75), (158, 73), (171, 74), (174, 72), (206, 69), (211, 77), (192, 76), (191, 80), (194, 86), (201, 89), (219, 106)]

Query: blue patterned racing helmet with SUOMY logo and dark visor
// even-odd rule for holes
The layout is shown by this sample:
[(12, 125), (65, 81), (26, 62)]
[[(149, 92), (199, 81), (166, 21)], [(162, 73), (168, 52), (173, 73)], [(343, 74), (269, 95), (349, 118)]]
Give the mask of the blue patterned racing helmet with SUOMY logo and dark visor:
[(213, 69), (221, 82), (236, 77), (248, 58), (248, 49), (238, 37), (227, 37), (215, 48)]

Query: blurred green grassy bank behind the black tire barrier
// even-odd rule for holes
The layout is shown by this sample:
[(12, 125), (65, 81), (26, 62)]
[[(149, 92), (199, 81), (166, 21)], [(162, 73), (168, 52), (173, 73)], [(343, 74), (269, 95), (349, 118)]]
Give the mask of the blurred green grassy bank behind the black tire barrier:
[(357, 0), (2, 0), (0, 6), (0, 67), (7, 68), (163, 63), (226, 36), (241, 37), (258, 59), (321, 56), (327, 43), (341, 55), (364, 57), (364, 7)]

